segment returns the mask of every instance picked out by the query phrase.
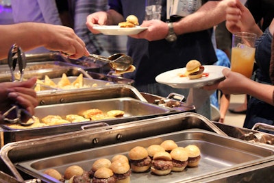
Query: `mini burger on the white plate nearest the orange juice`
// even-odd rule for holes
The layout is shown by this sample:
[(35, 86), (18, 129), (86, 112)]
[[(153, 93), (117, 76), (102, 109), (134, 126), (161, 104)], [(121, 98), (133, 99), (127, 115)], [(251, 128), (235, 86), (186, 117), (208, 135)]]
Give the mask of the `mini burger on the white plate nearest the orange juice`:
[(190, 60), (186, 64), (186, 73), (190, 80), (195, 80), (203, 76), (203, 71), (205, 68), (201, 66), (201, 63), (198, 60)]

